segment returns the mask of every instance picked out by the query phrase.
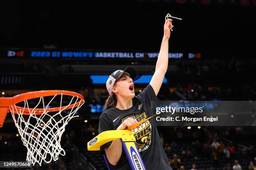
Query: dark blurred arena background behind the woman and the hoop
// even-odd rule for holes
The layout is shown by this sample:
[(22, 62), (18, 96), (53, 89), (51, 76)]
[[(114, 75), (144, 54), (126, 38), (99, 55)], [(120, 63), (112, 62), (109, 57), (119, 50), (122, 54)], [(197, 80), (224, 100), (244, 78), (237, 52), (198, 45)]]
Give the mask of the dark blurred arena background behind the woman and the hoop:
[[(113, 71), (133, 66), (139, 75), (136, 95), (148, 85), (167, 13), (182, 20), (172, 22), (159, 100), (256, 100), (255, 5), (255, 0), (2, 1), (1, 97), (69, 90), (85, 99), (62, 135), (66, 155), (31, 169), (107, 170), (100, 152), (87, 150), (98, 135), (108, 97), (105, 82)], [(173, 170), (232, 170), (236, 161), (243, 170), (256, 168), (255, 126), (159, 126), (158, 131)], [(0, 161), (26, 161), (26, 152), (8, 113), (0, 128)]]

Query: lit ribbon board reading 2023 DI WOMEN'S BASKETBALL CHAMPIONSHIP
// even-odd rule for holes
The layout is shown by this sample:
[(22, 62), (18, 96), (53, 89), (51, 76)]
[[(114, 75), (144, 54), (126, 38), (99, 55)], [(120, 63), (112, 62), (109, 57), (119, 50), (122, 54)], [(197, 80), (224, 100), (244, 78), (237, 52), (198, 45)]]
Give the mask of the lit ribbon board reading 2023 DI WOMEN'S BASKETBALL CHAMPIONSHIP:
[[(62, 59), (157, 59), (159, 52), (139, 51), (102, 51), (102, 50), (65, 50), (65, 49), (0, 49), (1, 57), (8, 58), (62, 58)], [(170, 52), (169, 58), (201, 58), (197, 52)]]

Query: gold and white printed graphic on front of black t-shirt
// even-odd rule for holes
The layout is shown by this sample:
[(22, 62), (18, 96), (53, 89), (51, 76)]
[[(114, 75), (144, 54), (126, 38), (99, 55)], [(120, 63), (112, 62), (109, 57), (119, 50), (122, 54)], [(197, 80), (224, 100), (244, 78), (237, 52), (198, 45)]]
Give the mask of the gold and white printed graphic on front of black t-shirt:
[[(138, 122), (141, 120), (146, 119), (148, 116), (145, 112), (138, 113), (135, 115), (129, 115), (128, 117), (124, 117), (122, 122), (126, 119), (136, 119)], [(147, 150), (149, 145), (151, 145), (151, 124), (149, 120), (146, 122), (141, 123), (139, 128), (132, 130), (134, 137), (136, 138), (136, 144), (139, 152)]]

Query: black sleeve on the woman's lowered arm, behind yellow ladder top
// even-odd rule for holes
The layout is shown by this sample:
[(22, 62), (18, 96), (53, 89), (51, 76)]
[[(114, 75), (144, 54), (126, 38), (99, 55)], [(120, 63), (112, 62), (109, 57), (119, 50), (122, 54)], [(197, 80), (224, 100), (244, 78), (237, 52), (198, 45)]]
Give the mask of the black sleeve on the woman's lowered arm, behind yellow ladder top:
[[(102, 132), (105, 132), (107, 130), (113, 130), (113, 127), (110, 123), (110, 120), (108, 119), (108, 116), (106, 115), (105, 112), (103, 112), (101, 115), (100, 115), (100, 123), (99, 123), (99, 134), (102, 133)], [(108, 142), (108, 143), (105, 143), (104, 145), (102, 145), (100, 147), (100, 153), (102, 155), (105, 155), (105, 148), (108, 148), (110, 145), (111, 145), (112, 141)]]

